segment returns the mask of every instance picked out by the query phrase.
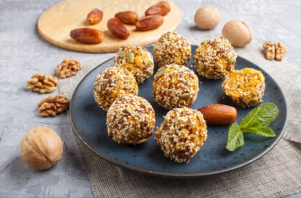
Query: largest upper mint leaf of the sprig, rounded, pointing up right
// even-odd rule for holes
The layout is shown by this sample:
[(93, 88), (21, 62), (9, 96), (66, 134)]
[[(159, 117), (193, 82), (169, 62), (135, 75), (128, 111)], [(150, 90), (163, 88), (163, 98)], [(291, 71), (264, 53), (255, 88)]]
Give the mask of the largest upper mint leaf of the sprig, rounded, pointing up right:
[(241, 130), (249, 128), (252, 122), (258, 121), (260, 125), (268, 126), (278, 115), (278, 108), (273, 103), (264, 103), (253, 109), (239, 124)]

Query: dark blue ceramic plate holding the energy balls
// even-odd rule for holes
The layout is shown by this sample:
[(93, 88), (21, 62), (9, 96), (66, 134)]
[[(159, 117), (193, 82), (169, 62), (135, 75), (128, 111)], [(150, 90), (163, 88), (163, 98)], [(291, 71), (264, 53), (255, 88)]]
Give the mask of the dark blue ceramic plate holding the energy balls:
[[(197, 46), (192, 46), (192, 52)], [(153, 53), (153, 47), (147, 50)], [(190, 65), (192, 65), (192, 60)], [(287, 122), (287, 104), (285, 97), (278, 86), (260, 67), (250, 61), (238, 57), (236, 70), (245, 67), (260, 70), (265, 76), (266, 88), (263, 101), (271, 102), (278, 106), (279, 114), (270, 125), (275, 131), (276, 137), (266, 138), (255, 134), (244, 134), (245, 144), (230, 152), (225, 149), (230, 125), (208, 126), (208, 139), (199, 152), (188, 164), (178, 163), (165, 157), (157, 142), (155, 134), (148, 141), (139, 145), (118, 144), (110, 139), (106, 132), (106, 111), (98, 107), (94, 102), (93, 84), (95, 77), (105, 68), (112, 67), (114, 59), (110, 59), (87, 74), (78, 84), (72, 97), (70, 115), (73, 128), (81, 141), (100, 157), (126, 169), (137, 172), (167, 177), (201, 177), (215, 175), (236, 170), (262, 157), (281, 138)], [(158, 66), (155, 65), (155, 71)], [(195, 71), (197, 74), (197, 72)], [(226, 104), (237, 109), (237, 123), (241, 121), (253, 108), (242, 108), (232, 102), (222, 90), (224, 79), (209, 80), (198, 75), (200, 91), (197, 100), (191, 108), (199, 109), (208, 104)], [(168, 110), (158, 105), (153, 97), (153, 76), (139, 85), (139, 96), (152, 104), (156, 112), (156, 127), (160, 126)], [(225, 99), (223, 99), (225, 97)]]

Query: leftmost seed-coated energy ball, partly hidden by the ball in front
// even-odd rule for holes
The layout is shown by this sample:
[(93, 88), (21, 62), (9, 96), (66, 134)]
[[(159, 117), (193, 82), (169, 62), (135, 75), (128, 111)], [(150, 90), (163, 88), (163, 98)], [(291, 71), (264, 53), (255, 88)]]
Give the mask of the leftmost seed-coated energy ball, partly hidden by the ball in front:
[(95, 78), (94, 99), (104, 110), (107, 111), (116, 98), (127, 94), (138, 94), (138, 85), (129, 71), (110, 67)]

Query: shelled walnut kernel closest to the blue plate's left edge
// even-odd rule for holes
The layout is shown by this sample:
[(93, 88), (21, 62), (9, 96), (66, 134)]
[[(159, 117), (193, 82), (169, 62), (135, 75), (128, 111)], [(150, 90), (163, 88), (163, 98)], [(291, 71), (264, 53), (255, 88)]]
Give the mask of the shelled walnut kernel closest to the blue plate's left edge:
[(62, 113), (69, 108), (70, 102), (63, 95), (56, 95), (55, 97), (49, 96), (43, 98), (38, 103), (39, 113), (43, 117), (53, 116), (55, 117), (58, 113)]

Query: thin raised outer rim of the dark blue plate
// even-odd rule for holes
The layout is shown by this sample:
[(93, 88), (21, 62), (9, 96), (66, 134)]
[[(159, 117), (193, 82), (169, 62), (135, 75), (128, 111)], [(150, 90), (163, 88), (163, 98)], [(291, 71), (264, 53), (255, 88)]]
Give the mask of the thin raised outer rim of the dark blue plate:
[[(191, 46), (196, 46), (196, 45), (191, 45)], [(149, 47), (152, 47), (152, 46), (149, 46)], [(239, 58), (241, 59), (244, 59), (244, 61), (247, 61), (247, 62), (251, 62), (241, 56), (238, 56)], [(267, 148), (265, 149), (261, 154), (259, 154), (257, 157), (249, 160), (249, 161), (246, 161), (238, 166), (234, 166), (234, 167), (231, 167), (231, 168), (228, 168), (226, 170), (217, 170), (217, 171), (213, 171), (213, 172), (209, 172), (209, 173), (198, 173), (198, 174), (174, 174), (174, 173), (167, 173), (167, 172), (156, 172), (156, 171), (149, 171), (149, 170), (145, 170), (145, 169), (141, 169), (141, 168), (136, 168), (136, 167), (133, 167), (133, 166), (130, 166), (128, 164), (123, 164), (121, 162), (118, 162), (118, 161), (113, 161), (109, 158), (107, 158), (106, 156), (102, 156), (100, 153), (98, 153), (96, 150), (94, 150), (91, 146), (89, 146), (83, 139), (82, 137), (79, 135), (79, 133), (77, 132), (77, 130), (75, 129), (74, 127), (74, 124), (73, 124), (73, 116), (72, 116), (72, 111), (71, 111), (71, 108), (72, 108), (72, 101), (73, 101), (73, 97), (74, 97), (74, 93), (76, 93), (76, 91), (78, 90), (78, 87), (80, 86), (80, 84), (83, 82), (83, 80), (85, 79), (86, 76), (88, 76), (90, 73), (92, 73), (94, 70), (98, 69), (98, 67), (100, 65), (103, 65), (105, 64), (106, 62), (108, 61), (111, 61), (112, 59), (114, 59), (114, 57), (106, 60), (105, 62), (99, 64), (98, 66), (96, 66), (95, 68), (93, 68), (90, 72), (88, 72), (84, 77), (83, 79), (78, 83), (78, 85), (76, 86), (73, 94), (72, 94), (72, 98), (71, 98), (71, 101), (70, 101), (70, 109), (69, 109), (69, 116), (70, 116), (70, 122), (71, 122), (71, 126), (75, 132), (75, 134), (78, 136), (78, 138), (81, 140), (81, 142), (84, 144), (84, 146), (88, 147), (92, 152), (94, 152), (96, 155), (98, 155), (99, 157), (101, 157), (102, 159), (110, 162), (111, 164), (113, 165), (117, 165), (121, 168), (125, 168), (127, 170), (131, 170), (131, 171), (135, 171), (135, 172), (138, 172), (138, 173), (143, 173), (143, 174), (146, 174), (146, 175), (150, 175), (150, 176), (157, 176), (157, 177), (168, 177), (168, 178), (201, 178), (201, 177), (208, 177), (208, 176), (215, 176), (215, 175), (220, 175), (220, 174), (225, 174), (225, 173), (228, 173), (228, 172), (232, 172), (234, 170), (239, 170), (255, 161), (257, 161), (258, 159), (260, 159), (261, 157), (263, 157), (264, 155), (266, 155), (271, 149), (273, 149), (273, 147), (280, 141), (280, 139), (282, 138), (283, 134), (284, 134), (284, 131), (286, 129), (286, 126), (287, 126), (287, 122), (288, 122), (288, 105), (287, 105), (287, 101), (286, 101), (286, 98), (285, 98), (285, 95), (281, 89), (281, 87), (279, 86), (279, 84), (277, 83), (277, 81), (275, 81), (275, 79), (269, 74), (269, 78), (272, 79), (276, 85), (280, 88), (280, 93), (282, 94), (283, 98), (284, 98), (284, 104), (285, 104), (285, 111), (286, 111), (286, 116), (285, 116), (285, 122), (284, 122), (284, 126), (283, 126), (283, 129), (281, 130), (279, 136), (277, 137), (277, 139)], [(262, 69), (260, 66), (258, 66), (257, 64), (251, 62), (252, 64), (256, 65), (257, 67), (260, 68), (261, 71), (265, 72), (268, 74), (268, 72), (266, 72), (264, 69)]]

